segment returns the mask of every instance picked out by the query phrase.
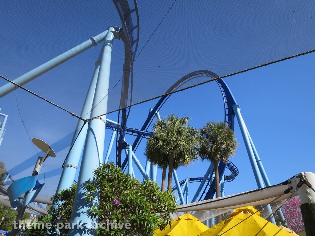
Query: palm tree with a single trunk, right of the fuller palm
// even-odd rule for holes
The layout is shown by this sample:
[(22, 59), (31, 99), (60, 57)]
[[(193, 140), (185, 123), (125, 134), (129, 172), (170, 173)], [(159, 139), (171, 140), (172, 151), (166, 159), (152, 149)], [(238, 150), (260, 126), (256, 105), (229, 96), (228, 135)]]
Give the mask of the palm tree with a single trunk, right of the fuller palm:
[[(198, 154), (201, 160), (209, 160), (214, 163), (215, 194), (220, 197), (219, 161), (227, 162), (229, 156), (235, 155), (238, 142), (235, 140), (233, 130), (225, 122), (207, 122), (199, 129)], [(217, 217), (221, 222), (221, 216)]]

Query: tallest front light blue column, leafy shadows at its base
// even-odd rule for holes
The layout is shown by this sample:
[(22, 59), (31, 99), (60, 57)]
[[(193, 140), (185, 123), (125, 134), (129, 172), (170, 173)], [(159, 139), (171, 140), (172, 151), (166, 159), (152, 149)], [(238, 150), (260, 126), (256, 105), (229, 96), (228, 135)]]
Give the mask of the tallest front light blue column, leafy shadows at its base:
[[(118, 30), (118, 27), (108, 27), (108, 33), (102, 46), (100, 70), (95, 88), (91, 117), (98, 117), (107, 111), (112, 42), (114, 39), (112, 31), (115, 32)], [(69, 236), (93, 235), (97, 230), (97, 219), (90, 219), (86, 214), (86, 208), (91, 203), (85, 200), (86, 190), (84, 190), (84, 184), (86, 181), (93, 179), (93, 171), (100, 165), (100, 158), (103, 158), (106, 115), (101, 116), (101, 118), (93, 119), (89, 122), (70, 220), (71, 225), (74, 225), (74, 227), (69, 229)], [(79, 224), (82, 228), (79, 227)]]

